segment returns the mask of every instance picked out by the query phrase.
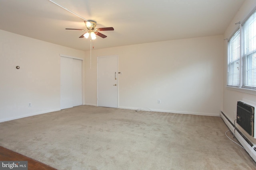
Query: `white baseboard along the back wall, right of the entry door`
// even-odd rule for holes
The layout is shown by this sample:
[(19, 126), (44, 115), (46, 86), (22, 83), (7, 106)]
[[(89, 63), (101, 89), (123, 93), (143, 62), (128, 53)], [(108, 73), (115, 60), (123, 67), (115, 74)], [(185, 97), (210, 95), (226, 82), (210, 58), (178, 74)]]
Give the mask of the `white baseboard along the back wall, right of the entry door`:
[(131, 109), (131, 110), (143, 110), (143, 111), (157, 111), (157, 112), (166, 112), (166, 113), (179, 113), (179, 114), (188, 114), (188, 115), (202, 115), (202, 116), (220, 116), (219, 114), (213, 113), (200, 113), (200, 112), (188, 112), (188, 111), (171, 111), (171, 110), (158, 110), (158, 109), (150, 109), (148, 107), (144, 108), (134, 108), (134, 107), (122, 107), (119, 106), (120, 109)]

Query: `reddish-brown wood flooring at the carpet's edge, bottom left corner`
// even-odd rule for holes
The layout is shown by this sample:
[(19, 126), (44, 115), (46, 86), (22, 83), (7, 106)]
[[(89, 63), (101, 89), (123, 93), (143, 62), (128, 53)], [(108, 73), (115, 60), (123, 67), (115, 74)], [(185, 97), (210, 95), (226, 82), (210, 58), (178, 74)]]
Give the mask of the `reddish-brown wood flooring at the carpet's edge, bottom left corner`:
[(13, 152), (12, 150), (6, 149), (4, 147), (0, 147), (0, 160), (28, 161), (28, 170), (57, 170), (46, 164), (43, 164), (42, 162), (38, 162), (37, 160), (28, 158), (27, 156)]

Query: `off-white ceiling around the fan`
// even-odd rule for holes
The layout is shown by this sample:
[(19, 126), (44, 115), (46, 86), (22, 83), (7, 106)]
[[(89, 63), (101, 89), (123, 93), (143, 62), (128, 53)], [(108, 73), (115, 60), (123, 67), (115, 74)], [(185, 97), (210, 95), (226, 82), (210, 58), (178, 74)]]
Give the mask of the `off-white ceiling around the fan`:
[[(53, 0), (96, 27), (106, 38), (94, 49), (221, 35), (244, 0)], [(87, 51), (90, 40), (78, 38), (84, 21), (49, 0), (0, 0), (0, 29)]]

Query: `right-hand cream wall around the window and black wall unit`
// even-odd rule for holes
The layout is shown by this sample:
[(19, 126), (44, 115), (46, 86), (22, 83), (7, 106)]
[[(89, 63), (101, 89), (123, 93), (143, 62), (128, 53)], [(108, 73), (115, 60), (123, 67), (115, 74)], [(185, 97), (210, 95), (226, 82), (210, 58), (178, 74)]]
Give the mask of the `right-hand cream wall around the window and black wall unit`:
[[(232, 34), (236, 31), (239, 25), (235, 23), (241, 22), (245, 20), (245, 18), (253, 11), (256, 7), (255, 0), (246, 0), (240, 10), (237, 12), (236, 16), (226, 29), (224, 33), (224, 38), (230, 38)], [(248, 100), (250, 102), (256, 102), (256, 90), (240, 90), (237, 88), (228, 88), (226, 87), (226, 78), (227, 78), (227, 44), (225, 41), (224, 44), (224, 97), (223, 97), (223, 112), (224, 114), (232, 121), (236, 119), (236, 104), (239, 100)], [(237, 124), (236, 124), (237, 125)], [(244, 130), (237, 125), (240, 131), (244, 132)], [(256, 143), (256, 139), (249, 137), (246, 132), (244, 132), (251, 141)]]

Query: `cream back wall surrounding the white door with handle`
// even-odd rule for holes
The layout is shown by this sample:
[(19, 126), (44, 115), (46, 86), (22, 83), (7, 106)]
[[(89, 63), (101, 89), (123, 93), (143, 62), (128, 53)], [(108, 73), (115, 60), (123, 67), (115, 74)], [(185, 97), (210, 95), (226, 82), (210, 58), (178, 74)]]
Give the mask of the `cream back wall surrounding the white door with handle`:
[(97, 56), (118, 55), (120, 108), (219, 115), (223, 44), (218, 35), (92, 50), (92, 68), (87, 51), (85, 104), (97, 104)]

